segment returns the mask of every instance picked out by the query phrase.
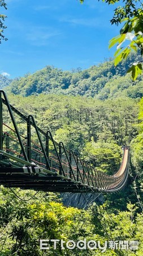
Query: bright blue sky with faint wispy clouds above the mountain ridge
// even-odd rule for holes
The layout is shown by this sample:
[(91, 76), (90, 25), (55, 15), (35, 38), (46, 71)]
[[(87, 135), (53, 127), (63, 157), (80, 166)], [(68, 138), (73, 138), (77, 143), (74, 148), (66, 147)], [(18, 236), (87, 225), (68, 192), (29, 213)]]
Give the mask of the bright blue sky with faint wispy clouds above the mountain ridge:
[(0, 73), (24, 76), (46, 65), (71, 70), (97, 65), (113, 56), (109, 40), (119, 34), (110, 24), (115, 6), (97, 0), (6, 0)]

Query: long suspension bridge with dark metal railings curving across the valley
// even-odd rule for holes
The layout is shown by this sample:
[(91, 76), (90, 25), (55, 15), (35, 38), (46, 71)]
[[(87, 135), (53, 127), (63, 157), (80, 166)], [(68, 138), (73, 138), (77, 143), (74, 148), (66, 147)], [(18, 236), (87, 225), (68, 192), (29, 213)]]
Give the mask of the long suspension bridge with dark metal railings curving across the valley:
[(0, 90), (0, 185), (49, 192), (115, 192), (127, 182), (129, 147), (114, 175), (97, 171), (10, 105)]

